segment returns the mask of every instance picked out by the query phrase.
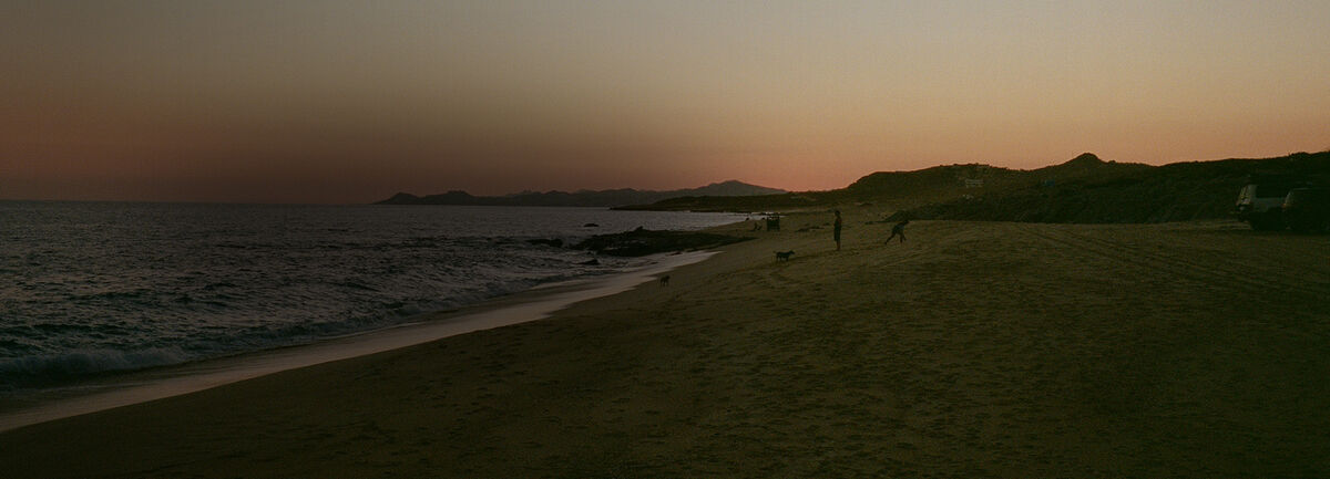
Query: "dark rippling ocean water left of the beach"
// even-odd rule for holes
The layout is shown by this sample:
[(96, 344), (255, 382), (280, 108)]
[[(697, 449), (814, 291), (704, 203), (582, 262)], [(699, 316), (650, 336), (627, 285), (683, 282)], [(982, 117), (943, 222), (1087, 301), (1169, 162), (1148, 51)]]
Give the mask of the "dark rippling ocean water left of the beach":
[(391, 328), (642, 268), (572, 244), (733, 214), (0, 202), (0, 398)]

